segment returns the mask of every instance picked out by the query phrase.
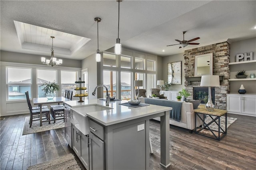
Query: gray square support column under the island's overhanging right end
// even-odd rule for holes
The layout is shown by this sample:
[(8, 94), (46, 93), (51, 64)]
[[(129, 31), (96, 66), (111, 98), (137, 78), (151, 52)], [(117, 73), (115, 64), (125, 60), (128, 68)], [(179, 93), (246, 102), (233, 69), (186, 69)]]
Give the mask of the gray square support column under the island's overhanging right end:
[(170, 166), (170, 111), (160, 117), (160, 165), (164, 168)]

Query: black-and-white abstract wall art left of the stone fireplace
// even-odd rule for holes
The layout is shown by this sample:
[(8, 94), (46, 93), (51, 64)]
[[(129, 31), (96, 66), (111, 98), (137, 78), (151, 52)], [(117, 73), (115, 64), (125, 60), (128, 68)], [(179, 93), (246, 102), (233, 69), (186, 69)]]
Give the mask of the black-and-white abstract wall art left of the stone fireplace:
[(171, 84), (181, 84), (181, 61), (167, 64), (167, 80)]

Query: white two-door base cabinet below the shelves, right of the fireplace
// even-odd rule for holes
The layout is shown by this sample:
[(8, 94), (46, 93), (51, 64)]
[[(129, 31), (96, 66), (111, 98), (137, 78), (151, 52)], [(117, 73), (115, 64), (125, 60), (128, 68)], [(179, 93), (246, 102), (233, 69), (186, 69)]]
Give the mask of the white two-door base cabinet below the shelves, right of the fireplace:
[(256, 95), (227, 94), (228, 113), (256, 116)]

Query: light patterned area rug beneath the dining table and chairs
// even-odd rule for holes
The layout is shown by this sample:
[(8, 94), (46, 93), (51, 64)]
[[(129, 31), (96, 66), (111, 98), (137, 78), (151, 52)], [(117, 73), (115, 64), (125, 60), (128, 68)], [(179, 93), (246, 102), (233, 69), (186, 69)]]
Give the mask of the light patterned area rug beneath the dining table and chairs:
[(40, 126), (40, 121), (33, 121), (32, 126), (29, 127), (29, 118), (30, 117), (25, 118), (22, 135), (43, 132), (43, 131), (49, 131), (52, 129), (58, 129), (58, 128), (64, 127), (63, 119), (56, 120), (56, 123), (53, 123), (53, 121), (51, 121), (51, 124), (48, 124), (48, 122), (43, 122), (42, 126)]

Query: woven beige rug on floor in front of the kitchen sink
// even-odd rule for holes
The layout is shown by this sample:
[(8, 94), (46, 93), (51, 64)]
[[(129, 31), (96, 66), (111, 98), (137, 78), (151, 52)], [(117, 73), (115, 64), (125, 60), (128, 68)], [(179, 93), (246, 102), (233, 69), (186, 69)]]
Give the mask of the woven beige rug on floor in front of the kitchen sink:
[(70, 153), (60, 158), (29, 166), (27, 170), (81, 170), (75, 156)]

